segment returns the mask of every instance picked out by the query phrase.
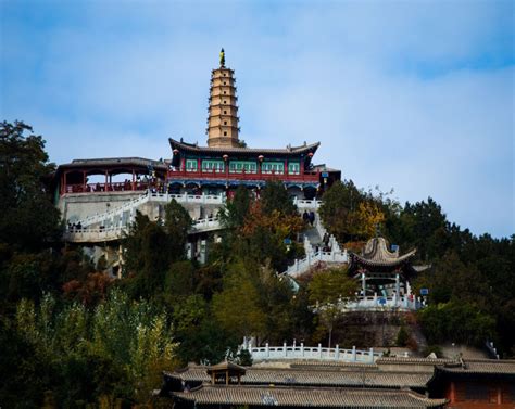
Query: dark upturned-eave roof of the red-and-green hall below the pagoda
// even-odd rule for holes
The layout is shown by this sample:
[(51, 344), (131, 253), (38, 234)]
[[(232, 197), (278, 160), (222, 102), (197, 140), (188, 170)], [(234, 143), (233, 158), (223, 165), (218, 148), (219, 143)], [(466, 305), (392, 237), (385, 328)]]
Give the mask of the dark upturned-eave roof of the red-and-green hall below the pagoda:
[(177, 141), (169, 138), (169, 145), (172, 150), (177, 149), (183, 152), (198, 153), (198, 154), (217, 154), (224, 155), (227, 154), (237, 154), (239, 156), (259, 156), (264, 155), (275, 155), (275, 156), (299, 156), (301, 154), (307, 154), (312, 152), (313, 154), (319, 146), (319, 142), (304, 144), (301, 146), (288, 146), (286, 149), (255, 149), (255, 148), (209, 148), (209, 146), (199, 146), (198, 144), (187, 143), (184, 141)]

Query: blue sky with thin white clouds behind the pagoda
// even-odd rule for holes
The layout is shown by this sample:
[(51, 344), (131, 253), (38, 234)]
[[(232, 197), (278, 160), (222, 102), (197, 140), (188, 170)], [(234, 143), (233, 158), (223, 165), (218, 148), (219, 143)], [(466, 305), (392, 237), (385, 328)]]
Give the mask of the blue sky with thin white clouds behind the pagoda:
[(0, 119), (56, 164), (205, 144), (211, 69), (240, 139), (314, 162), (475, 234), (515, 233), (513, 1), (0, 0)]

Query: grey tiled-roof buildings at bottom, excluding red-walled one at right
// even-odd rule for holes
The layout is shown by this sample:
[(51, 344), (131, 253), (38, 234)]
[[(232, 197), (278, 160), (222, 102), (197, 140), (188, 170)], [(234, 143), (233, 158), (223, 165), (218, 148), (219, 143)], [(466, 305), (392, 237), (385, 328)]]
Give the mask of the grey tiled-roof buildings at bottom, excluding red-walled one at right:
[[(406, 373), (378, 365), (329, 366), (293, 361), (237, 367), (189, 366), (164, 372), (160, 396), (176, 408), (443, 408), (447, 399), (428, 398), (428, 371)], [(218, 373), (219, 375), (215, 375)]]

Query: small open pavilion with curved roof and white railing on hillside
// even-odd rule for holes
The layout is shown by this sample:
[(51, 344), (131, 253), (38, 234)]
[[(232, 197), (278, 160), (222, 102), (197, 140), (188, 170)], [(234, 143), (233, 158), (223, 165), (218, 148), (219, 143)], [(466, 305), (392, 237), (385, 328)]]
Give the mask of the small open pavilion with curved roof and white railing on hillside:
[(384, 238), (370, 239), (361, 254), (349, 252), (349, 273), (361, 282), (356, 303), (350, 309), (398, 308), (414, 310), (420, 299), (411, 290), (410, 280), (423, 268), (412, 266), (416, 250), (403, 255), (399, 247), (388, 248)]

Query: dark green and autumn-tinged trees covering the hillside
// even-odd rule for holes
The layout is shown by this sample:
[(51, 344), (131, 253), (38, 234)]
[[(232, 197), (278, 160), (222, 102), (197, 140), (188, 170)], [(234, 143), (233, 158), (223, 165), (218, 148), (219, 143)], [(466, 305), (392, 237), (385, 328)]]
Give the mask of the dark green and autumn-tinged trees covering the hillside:
[[(185, 257), (191, 220), (180, 205), (166, 207), (162, 225), (138, 215), (124, 242), (124, 276), (114, 281), (102, 263), (59, 242), (42, 139), (21, 123), (2, 124), (0, 137), (2, 407), (147, 402), (162, 369), (236, 355), (243, 335), (328, 341), (335, 317), (314, 316), (310, 306), (352, 294), (354, 283), (344, 269), (315, 272), (294, 292), (276, 274), (302, 257), (294, 239), (305, 228), (280, 183), (269, 183), (260, 202), (237, 191), (223, 240), (203, 266)], [(401, 206), (350, 181), (324, 199), (321, 215), (342, 243), (362, 243), (379, 229), (432, 265), (416, 283), (430, 289), (419, 320), (432, 342), (489, 337), (514, 355), (513, 238), (476, 238), (430, 199)]]

